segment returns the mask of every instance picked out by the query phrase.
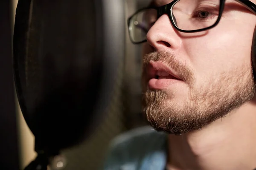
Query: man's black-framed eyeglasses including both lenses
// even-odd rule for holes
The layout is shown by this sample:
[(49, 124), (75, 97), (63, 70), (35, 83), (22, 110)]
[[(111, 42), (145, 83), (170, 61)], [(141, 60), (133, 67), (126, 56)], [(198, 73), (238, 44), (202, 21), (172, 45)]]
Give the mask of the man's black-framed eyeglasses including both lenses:
[(145, 42), (149, 29), (163, 14), (169, 16), (174, 28), (180, 32), (192, 33), (213, 28), (219, 23), (225, 4), (234, 1), (256, 14), (256, 4), (250, 0), (173, 0), (164, 6), (140, 9), (128, 19), (131, 42)]

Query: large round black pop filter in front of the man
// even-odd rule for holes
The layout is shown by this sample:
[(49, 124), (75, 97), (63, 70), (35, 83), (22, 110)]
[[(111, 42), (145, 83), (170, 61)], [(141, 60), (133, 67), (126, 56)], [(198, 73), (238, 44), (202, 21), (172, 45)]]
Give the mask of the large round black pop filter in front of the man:
[(41, 162), (104, 117), (124, 57), (123, 9), (120, 0), (18, 1), (15, 87)]

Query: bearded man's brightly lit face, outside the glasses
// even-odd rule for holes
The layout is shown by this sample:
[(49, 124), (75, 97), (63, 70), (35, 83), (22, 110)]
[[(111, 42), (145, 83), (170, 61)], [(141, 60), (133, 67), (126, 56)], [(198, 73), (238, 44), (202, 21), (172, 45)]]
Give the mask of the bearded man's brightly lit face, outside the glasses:
[[(220, 22), (207, 31), (179, 32), (166, 14), (148, 31), (143, 107), (157, 130), (198, 130), (252, 99), (256, 16), (235, 0), (226, 1)], [(158, 6), (170, 2), (155, 0)]]

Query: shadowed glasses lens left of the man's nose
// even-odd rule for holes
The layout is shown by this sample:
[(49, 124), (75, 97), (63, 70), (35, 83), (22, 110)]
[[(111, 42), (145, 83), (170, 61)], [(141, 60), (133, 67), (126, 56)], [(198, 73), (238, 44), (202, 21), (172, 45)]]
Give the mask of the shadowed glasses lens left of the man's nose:
[(129, 34), (133, 42), (142, 42), (146, 40), (148, 30), (157, 20), (156, 9), (145, 9), (131, 17), (129, 23)]

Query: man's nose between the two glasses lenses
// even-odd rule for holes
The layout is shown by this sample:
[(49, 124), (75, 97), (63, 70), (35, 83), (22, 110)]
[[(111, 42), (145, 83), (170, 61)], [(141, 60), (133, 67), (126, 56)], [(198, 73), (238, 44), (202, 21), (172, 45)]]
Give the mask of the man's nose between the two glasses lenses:
[(177, 51), (182, 42), (166, 14), (162, 15), (150, 28), (147, 41), (155, 51)]

